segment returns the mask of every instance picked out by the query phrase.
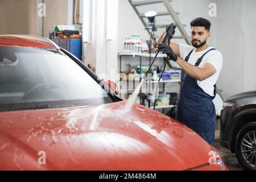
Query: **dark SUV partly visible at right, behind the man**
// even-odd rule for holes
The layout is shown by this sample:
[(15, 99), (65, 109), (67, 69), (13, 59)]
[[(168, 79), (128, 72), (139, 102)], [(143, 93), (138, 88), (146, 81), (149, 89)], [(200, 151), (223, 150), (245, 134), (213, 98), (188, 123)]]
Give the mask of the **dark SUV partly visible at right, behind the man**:
[(221, 145), (236, 153), (244, 169), (256, 171), (256, 91), (229, 97), (220, 121)]

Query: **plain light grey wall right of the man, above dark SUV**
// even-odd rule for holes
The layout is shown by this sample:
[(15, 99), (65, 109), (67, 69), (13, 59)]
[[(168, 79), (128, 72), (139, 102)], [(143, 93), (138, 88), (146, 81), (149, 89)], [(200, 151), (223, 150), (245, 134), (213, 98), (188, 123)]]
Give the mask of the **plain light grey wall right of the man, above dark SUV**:
[(224, 57), (218, 87), (227, 98), (256, 89), (256, 4), (253, 0), (218, 0), (217, 7), (216, 45)]

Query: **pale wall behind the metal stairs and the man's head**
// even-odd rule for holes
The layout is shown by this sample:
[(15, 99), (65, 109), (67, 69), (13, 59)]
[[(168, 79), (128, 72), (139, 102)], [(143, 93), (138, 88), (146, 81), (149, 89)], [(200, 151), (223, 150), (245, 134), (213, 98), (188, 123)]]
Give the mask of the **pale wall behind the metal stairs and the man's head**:
[[(136, 0), (138, 1), (138, 0)], [(183, 24), (187, 24), (185, 30), (188, 35), (190, 34), (191, 27), (189, 23), (193, 18), (204, 17), (212, 22), (212, 32), (215, 30), (215, 17), (209, 17), (209, 3), (216, 3), (215, 0), (173, 0), (171, 2), (172, 7), (174, 7), (175, 11), (179, 11), (180, 21)], [(142, 13), (146, 13), (147, 11), (156, 11), (163, 12), (167, 11), (162, 3), (157, 3), (154, 5), (145, 5), (139, 6), (138, 10)], [(139, 20), (137, 14), (131, 7), (128, 0), (119, 0), (119, 13), (118, 13), (118, 51), (122, 51), (123, 42), (125, 38), (128, 38), (130, 35), (138, 34), (141, 39), (149, 40), (149, 35), (146, 30), (144, 30), (144, 26)], [(147, 19), (145, 19), (147, 22)], [(168, 16), (156, 16), (156, 24), (169, 24), (174, 22), (170, 15)], [(158, 28), (158, 31), (155, 32), (156, 36), (159, 36), (164, 31), (164, 28)], [(179, 30), (176, 30), (176, 35), (180, 35)], [(214, 34), (212, 38), (209, 40), (210, 44), (214, 44)], [(177, 43), (185, 43), (183, 39), (174, 39), (174, 42)]]

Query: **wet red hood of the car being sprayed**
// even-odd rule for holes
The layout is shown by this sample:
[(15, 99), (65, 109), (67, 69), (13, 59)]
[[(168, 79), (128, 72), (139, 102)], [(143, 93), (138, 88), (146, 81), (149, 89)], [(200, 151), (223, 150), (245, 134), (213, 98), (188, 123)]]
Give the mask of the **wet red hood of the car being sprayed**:
[(126, 101), (0, 113), (0, 169), (182, 170), (212, 148), (188, 127)]

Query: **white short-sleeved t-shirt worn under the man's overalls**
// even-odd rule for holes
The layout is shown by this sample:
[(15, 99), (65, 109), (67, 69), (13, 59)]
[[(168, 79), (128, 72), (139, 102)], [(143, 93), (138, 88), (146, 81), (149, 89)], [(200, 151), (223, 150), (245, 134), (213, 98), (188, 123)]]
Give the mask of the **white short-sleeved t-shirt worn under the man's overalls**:
[[(188, 53), (192, 50), (188, 63), (195, 65), (197, 59), (201, 57), (205, 52), (207, 52), (209, 49), (213, 47), (208, 47), (204, 51), (196, 52), (195, 47), (188, 46), (186, 44), (180, 44), (180, 57), (182, 59), (185, 59), (185, 57), (188, 55)], [(201, 89), (204, 90), (205, 93), (209, 94), (210, 96), (214, 96), (214, 85), (216, 84), (218, 80), (218, 76), (220, 75), (221, 68), (222, 68), (222, 55), (220, 51), (213, 50), (208, 52), (206, 55), (204, 55), (203, 60), (199, 64), (199, 67), (202, 68), (205, 63), (210, 63), (216, 68), (216, 73), (214, 73), (209, 78), (206, 78), (203, 81), (197, 80), (197, 85), (201, 87)]]

